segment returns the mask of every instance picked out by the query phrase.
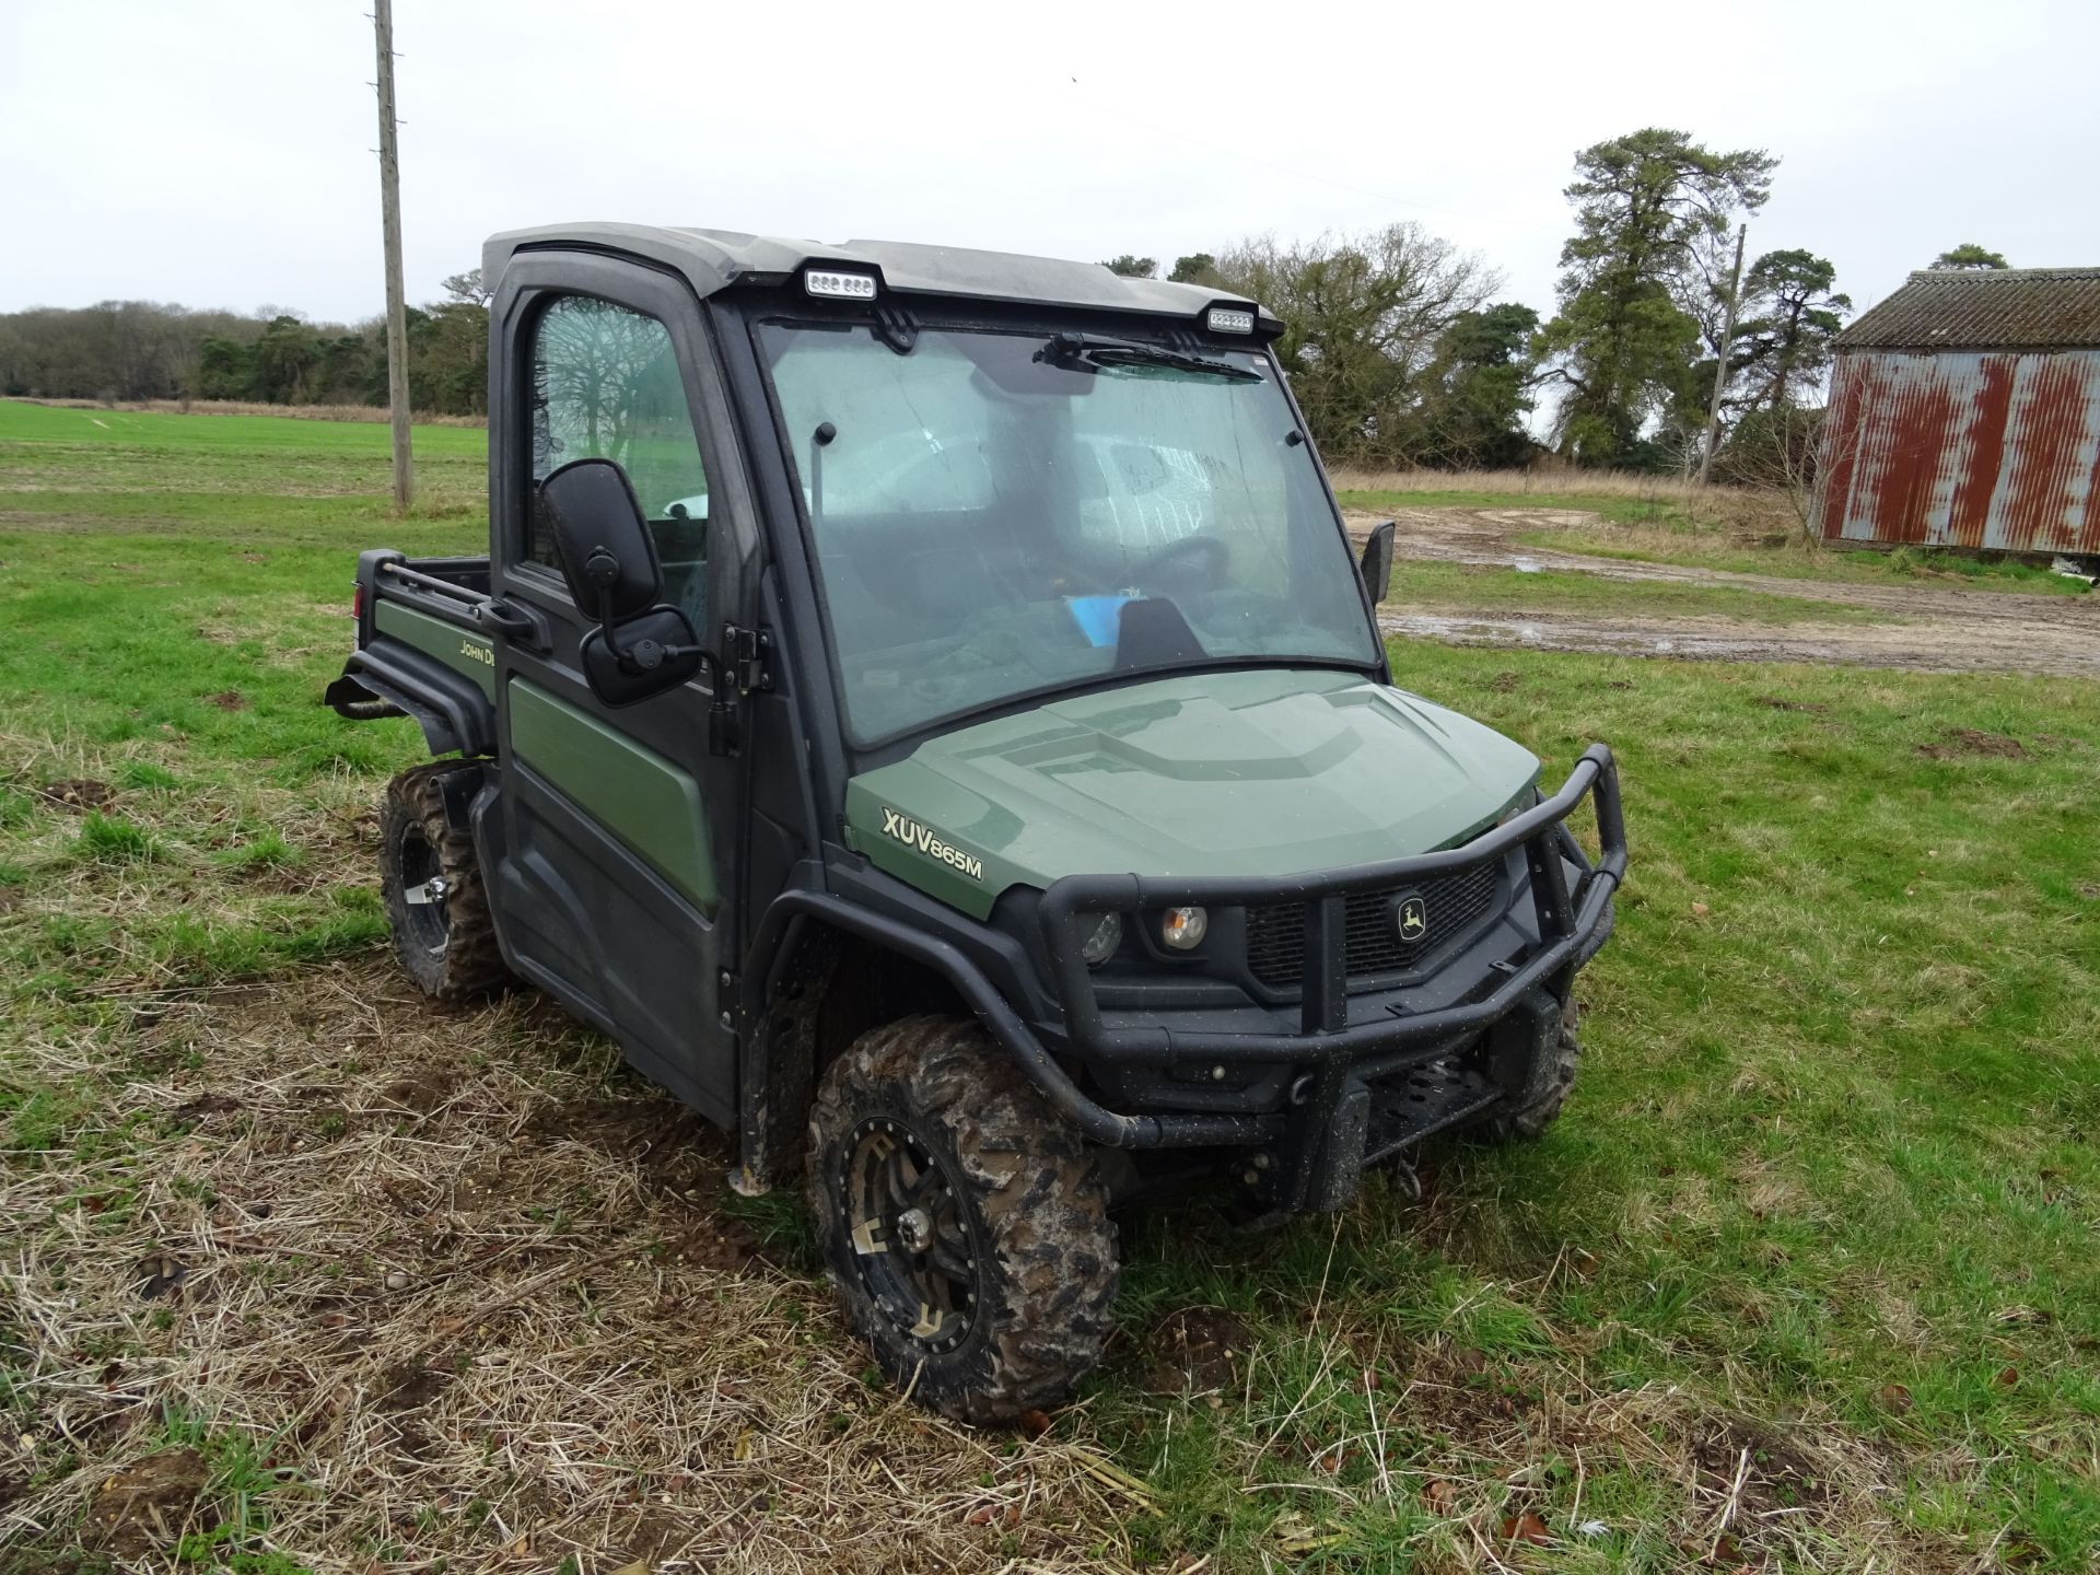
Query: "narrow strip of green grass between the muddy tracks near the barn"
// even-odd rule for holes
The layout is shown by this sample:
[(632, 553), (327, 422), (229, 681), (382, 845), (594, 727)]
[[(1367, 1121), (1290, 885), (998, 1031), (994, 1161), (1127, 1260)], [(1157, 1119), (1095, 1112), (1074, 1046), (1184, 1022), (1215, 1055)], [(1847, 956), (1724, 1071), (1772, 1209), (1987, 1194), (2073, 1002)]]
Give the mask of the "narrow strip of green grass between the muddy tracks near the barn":
[(1900, 624), (1865, 607), (1779, 596), (1741, 586), (1606, 580), (1579, 569), (1493, 569), (1401, 559), (1392, 565), (1394, 611), (1609, 613), (1615, 617), (1735, 617), (1745, 624)]

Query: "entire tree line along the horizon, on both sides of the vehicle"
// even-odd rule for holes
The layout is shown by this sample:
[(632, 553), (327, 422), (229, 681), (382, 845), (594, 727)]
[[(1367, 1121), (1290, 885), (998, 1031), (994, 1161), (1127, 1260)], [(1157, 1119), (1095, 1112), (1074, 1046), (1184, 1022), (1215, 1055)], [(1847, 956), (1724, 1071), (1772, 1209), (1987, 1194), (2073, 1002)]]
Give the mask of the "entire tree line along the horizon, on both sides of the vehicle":
[[(1554, 454), (1688, 470), (1718, 382), (1722, 475), (1751, 479), (1774, 454), (1793, 464), (1806, 452), (1852, 311), (1835, 267), (1804, 248), (1762, 250), (1735, 279), (1737, 229), (1764, 208), (1777, 168), (1762, 149), (1716, 151), (1665, 128), (1581, 149), (1552, 315), (1502, 298), (1480, 256), (1411, 223), (1252, 237), (1180, 256), (1168, 277), (1252, 296), (1283, 321), (1279, 359), (1331, 464), (1502, 468)], [(1107, 267), (1159, 273), (1136, 254)], [(1934, 267), (2008, 265), (1966, 242)], [(410, 399), (485, 414), (487, 290), (479, 271), (443, 290), (410, 309)], [(386, 336), (380, 319), (311, 323), (271, 309), (40, 307), (0, 315), (0, 393), (376, 405)]]

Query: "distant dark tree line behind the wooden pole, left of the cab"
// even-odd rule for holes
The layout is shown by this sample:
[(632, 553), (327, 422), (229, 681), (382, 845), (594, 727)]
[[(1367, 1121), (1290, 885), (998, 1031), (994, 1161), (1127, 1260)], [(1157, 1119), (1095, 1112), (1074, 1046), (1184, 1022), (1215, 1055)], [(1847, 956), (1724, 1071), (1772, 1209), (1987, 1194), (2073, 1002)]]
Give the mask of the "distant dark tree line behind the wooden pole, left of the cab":
[[(489, 304), (481, 271), (407, 309), (410, 403), (487, 414)], [(32, 399), (246, 399), (384, 405), (386, 319), (313, 323), (292, 311), (191, 311), (153, 300), (0, 313), (0, 395)]]

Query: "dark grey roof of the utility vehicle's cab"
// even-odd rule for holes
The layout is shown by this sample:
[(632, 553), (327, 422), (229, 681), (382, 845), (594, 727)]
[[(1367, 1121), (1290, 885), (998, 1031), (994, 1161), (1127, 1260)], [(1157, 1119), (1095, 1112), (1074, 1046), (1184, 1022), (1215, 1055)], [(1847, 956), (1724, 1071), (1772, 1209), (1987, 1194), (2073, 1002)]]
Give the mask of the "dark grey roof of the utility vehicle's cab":
[[(664, 225), (544, 225), (491, 235), (481, 248), (481, 277), (494, 290), (504, 265), (523, 250), (588, 248), (624, 252), (676, 269), (695, 294), (712, 296), (735, 284), (781, 284), (804, 265), (876, 273), (884, 294), (966, 296), (1029, 304), (1086, 307), (1195, 319), (1222, 302), (1254, 302), (1222, 290), (1166, 279), (1126, 279), (1100, 262), (1065, 262), (1012, 252), (974, 252), (962, 246), (909, 242), (804, 242), (781, 235), (743, 235), (729, 229), (674, 229)], [(1260, 311), (1264, 334), (1283, 326)]]

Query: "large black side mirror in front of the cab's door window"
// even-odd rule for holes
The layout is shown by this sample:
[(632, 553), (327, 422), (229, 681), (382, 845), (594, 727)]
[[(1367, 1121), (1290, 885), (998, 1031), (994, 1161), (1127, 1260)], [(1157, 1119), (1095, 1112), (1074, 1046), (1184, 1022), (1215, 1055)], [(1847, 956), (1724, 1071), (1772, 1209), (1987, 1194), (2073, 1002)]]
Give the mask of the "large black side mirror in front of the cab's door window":
[(540, 483), (540, 508), (569, 594), (598, 620), (578, 649), (598, 699), (632, 706), (712, 666), (691, 620), (659, 605), (664, 565), (626, 470), (611, 460), (571, 460)]

